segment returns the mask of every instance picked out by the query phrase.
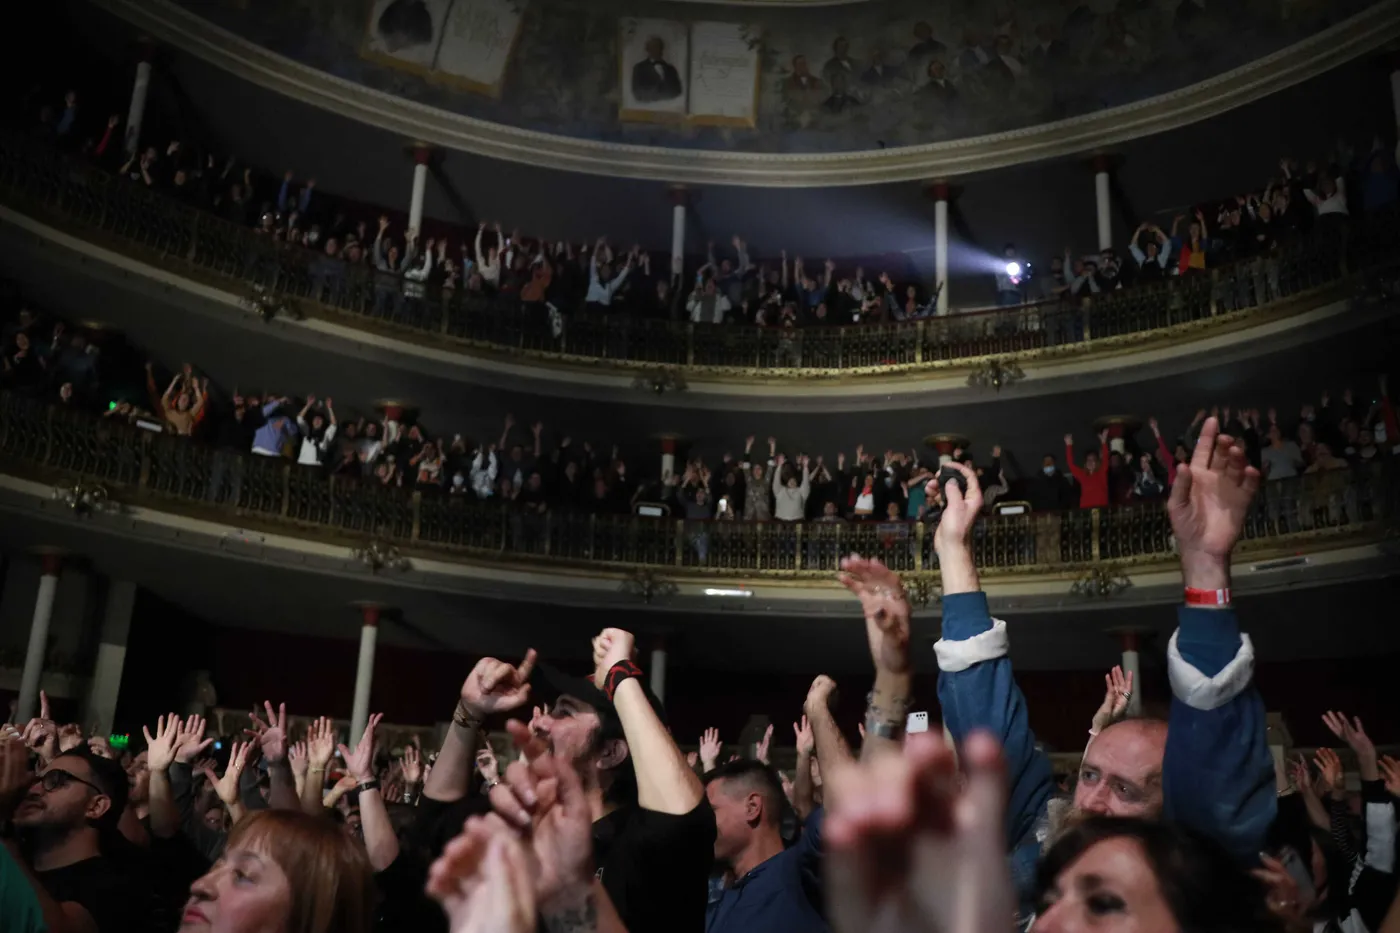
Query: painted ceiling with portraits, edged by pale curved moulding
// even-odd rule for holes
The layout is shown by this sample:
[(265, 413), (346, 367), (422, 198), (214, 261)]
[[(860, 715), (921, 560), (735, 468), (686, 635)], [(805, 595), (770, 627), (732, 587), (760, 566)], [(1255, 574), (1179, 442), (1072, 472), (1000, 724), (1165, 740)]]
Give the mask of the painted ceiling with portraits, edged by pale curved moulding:
[[(869, 185), (1092, 151), (1224, 113), (1400, 35), (1394, 0), (97, 0), (280, 94), (532, 165)], [(652, 62), (650, 69), (644, 64)], [(654, 77), (655, 76), (655, 77)]]

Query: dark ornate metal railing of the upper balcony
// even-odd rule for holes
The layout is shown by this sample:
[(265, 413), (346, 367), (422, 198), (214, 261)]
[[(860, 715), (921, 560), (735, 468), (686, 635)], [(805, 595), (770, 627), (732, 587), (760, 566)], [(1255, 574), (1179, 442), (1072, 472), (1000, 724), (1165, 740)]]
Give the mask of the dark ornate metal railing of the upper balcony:
[[(259, 235), (31, 139), (0, 134), (0, 202), (76, 235), (238, 294), (354, 326), (540, 359), (606, 360), (696, 374), (839, 375), (937, 368), (988, 356), (1074, 352), (1175, 328), (1235, 321), (1400, 254), (1393, 216), (1358, 220), (1350, 238), (1289, 241), (1210, 273), (1092, 298), (959, 311), (890, 325), (759, 328), (591, 315), (465, 289), (409, 286), (365, 266)], [(1239, 314), (1232, 314), (1239, 312)]]

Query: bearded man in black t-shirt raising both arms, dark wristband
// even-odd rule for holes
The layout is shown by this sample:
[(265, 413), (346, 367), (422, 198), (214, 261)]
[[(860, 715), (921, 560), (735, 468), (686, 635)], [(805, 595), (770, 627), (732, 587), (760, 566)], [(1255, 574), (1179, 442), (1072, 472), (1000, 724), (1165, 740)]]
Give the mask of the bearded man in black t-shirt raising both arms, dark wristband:
[[(424, 797), (465, 796), (482, 721), (532, 699), (549, 700), (531, 723), (550, 754), (574, 762), (594, 818), (598, 877), (631, 933), (704, 929), (714, 857), (714, 811), (700, 779), (644, 686), (630, 632), (603, 629), (594, 642), (591, 678), (540, 665), (535, 651), (518, 665), (483, 658), (462, 685), (452, 728), (424, 786)], [(507, 821), (529, 825), (538, 804), (519, 769), (507, 768), (490, 803)], [(448, 822), (448, 821), (445, 821)], [(456, 822), (461, 825), (461, 821)]]

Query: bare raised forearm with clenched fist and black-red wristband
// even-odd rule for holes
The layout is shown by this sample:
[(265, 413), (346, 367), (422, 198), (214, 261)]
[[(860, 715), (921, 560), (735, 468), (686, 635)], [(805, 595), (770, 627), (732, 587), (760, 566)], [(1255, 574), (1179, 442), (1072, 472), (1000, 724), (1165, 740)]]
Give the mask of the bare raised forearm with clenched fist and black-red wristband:
[[(623, 629), (603, 629), (594, 639), (594, 684), (599, 689), (608, 689), (616, 665), (631, 664), (634, 647), (631, 632)], [(637, 775), (637, 804), (669, 814), (694, 810), (704, 800), (704, 787), (647, 700), (641, 681), (627, 677), (616, 685), (612, 699)]]

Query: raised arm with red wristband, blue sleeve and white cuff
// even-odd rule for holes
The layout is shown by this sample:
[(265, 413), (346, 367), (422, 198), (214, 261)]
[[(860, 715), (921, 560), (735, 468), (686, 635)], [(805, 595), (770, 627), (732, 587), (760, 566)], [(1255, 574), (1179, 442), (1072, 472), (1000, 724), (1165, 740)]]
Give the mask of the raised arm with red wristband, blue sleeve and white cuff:
[(1186, 605), (1168, 644), (1172, 713), (1162, 766), (1165, 817), (1253, 862), (1277, 813), (1254, 649), (1231, 608), (1231, 551), (1259, 489), (1235, 438), (1205, 419), (1168, 502)]

